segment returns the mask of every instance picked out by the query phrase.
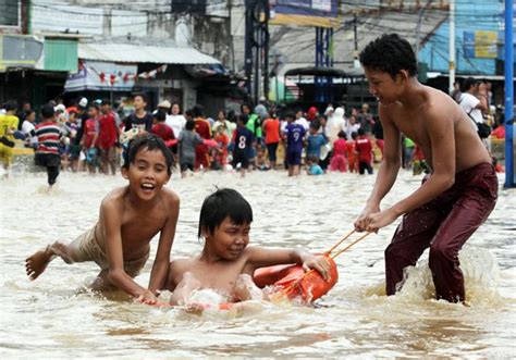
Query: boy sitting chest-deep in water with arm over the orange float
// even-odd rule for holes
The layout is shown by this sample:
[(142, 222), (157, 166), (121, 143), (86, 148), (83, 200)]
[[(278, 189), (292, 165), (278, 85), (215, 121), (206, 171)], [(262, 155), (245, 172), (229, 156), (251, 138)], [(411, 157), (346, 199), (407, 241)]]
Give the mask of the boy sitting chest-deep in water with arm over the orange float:
[(248, 247), (251, 222), (249, 202), (233, 189), (219, 189), (205, 199), (198, 229), (205, 246), (200, 255), (170, 263), (165, 288), (173, 291), (171, 305), (188, 305), (199, 289), (219, 291), (230, 302), (261, 300), (263, 294), (253, 274), (258, 268), (277, 264), (303, 264), (305, 271), (316, 269), (329, 278), (330, 263), (322, 257), (303, 250)]

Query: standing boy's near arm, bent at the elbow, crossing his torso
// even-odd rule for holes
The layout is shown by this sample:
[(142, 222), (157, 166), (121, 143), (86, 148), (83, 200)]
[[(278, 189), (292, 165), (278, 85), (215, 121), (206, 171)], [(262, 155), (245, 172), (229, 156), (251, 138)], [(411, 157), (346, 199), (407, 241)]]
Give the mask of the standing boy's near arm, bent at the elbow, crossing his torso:
[(442, 109), (426, 114), (426, 126), (431, 141), (433, 173), (416, 191), (391, 208), (367, 219), (367, 231), (373, 232), (391, 224), (396, 218), (434, 199), (455, 182), (454, 122)]

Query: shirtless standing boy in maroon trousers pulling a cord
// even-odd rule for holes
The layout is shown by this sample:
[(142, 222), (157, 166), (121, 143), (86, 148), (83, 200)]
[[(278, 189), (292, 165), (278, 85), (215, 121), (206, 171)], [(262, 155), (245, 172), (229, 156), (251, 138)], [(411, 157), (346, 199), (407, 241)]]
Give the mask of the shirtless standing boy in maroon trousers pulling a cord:
[[(369, 91), (379, 100), (384, 158), (357, 231), (377, 232), (403, 215), (385, 249), (386, 294), (403, 285), (403, 270), (430, 247), (438, 299), (464, 302), (458, 251), (494, 208), (497, 178), (468, 115), (444, 92), (419, 84), (408, 41), (395, 34), (371, 41), (360, 53)], [(401, 133), (423, 151), (431, 174), (411, 195), (380, 210), (401, 162)]]

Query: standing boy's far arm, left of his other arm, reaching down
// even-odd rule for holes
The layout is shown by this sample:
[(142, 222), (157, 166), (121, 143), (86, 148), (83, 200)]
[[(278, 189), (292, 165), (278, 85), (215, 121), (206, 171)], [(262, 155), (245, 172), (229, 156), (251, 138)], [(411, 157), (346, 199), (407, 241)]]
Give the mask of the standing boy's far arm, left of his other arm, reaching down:
[(380, 202), (394, 185), (401, 166), (400, 129), (390, 120), (389, 115), (385, 114), (385, 110), (382, 107), (379, 110), (384, 137), (383, 160), (366, 207), (355, 221), (355, 228), (359, 232), (366, 229), (367, 216), (380, 211)]

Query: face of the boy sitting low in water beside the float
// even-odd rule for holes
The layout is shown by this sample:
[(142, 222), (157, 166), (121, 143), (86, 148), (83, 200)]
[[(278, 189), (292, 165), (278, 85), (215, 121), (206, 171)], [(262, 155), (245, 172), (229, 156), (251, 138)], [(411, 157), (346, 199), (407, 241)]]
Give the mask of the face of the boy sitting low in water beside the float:
[(237, 259), (249, 244), (250, 224), (236, 225), (226, 216), (213, 234), (205, 234), (216, 255), (226, 260)]

